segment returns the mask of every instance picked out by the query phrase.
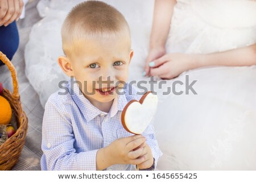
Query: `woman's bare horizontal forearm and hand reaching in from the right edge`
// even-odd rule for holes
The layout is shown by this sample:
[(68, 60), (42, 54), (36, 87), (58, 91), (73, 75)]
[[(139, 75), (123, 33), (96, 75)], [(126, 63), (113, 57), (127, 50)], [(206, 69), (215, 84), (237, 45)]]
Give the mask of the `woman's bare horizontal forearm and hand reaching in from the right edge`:
[[(153, 62), (153, 61), (152, 61)], [(151, 67), (151, 75), (161, 78), (175, 78), (184, 71), (208, 66), (240, 67), (256, 65), (256, 44), (225, 52), (205, 55), (171, 53), (156, 59)]]

